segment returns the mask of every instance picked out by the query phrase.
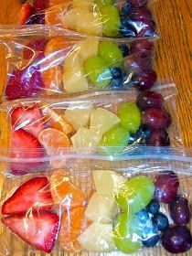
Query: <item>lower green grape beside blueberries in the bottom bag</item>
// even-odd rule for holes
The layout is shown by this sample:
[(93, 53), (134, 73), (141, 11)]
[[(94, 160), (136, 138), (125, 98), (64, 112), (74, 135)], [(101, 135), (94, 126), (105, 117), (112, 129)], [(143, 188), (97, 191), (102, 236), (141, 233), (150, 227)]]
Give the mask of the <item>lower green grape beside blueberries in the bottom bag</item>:
[(120, 251), (133, 253), (141, 248), (142, 229), (134, 214), (122, 213), (114, 223), (114, 243)]

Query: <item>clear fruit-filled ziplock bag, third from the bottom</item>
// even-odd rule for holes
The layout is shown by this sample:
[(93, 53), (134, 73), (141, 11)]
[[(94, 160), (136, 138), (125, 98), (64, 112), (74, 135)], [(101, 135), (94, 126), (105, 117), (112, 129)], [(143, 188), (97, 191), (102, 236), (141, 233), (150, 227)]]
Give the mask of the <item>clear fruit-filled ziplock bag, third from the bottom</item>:
[(49, 28), (15, 33), (1, 40), (6, 48), (7, 100), (133, 86), (146, 90), (155, 84), (152, 41), (51, 37), (55, 31)]

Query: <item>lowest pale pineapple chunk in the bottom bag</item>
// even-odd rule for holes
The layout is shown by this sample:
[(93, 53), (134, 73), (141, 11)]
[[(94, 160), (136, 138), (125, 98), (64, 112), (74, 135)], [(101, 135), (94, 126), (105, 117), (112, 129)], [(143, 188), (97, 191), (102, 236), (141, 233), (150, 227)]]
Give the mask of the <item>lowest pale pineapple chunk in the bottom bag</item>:
[(110, 252), (115, 248), (112, 224), (93, 222), (78, 238), (83, 249), (92, 252)]

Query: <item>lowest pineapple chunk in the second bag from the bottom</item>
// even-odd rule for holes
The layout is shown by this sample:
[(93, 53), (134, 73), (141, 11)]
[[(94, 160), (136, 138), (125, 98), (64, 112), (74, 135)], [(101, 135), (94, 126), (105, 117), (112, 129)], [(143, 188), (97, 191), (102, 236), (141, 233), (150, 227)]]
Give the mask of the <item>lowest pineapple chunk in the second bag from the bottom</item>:
[(71, 137), (71, 141), (75, 147), (94, 147), (100, 143), (101, 136), (91, 129), (81, 127), (77, 133)]

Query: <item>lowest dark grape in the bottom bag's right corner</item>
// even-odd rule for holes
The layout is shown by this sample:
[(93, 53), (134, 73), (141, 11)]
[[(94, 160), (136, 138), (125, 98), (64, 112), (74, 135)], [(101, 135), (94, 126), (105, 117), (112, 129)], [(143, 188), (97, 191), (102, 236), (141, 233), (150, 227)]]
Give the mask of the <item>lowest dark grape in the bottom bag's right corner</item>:
[(171, 253), (188, 251), (192, 245), (190, 231), (185, 226), (169, 228), (162, 236), (162, 245), (166, 251)]

